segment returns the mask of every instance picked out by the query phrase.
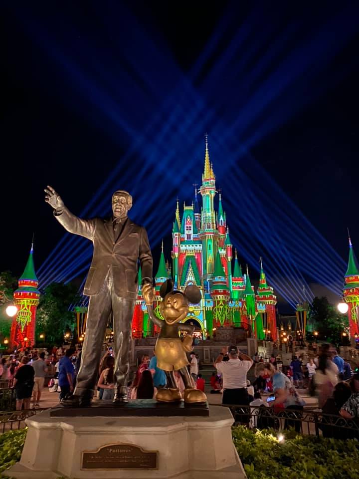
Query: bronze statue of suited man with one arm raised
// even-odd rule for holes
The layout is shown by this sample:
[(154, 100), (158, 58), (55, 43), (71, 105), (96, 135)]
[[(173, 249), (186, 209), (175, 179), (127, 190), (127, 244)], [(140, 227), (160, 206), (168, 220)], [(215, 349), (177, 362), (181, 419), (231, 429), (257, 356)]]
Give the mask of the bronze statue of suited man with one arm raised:
[(82, 220), (69, 212), (60, 196), (47, 186), (45, 201), (56, 220), (70, 233), (91, 240), (94, 252), (84, 294), (90, 296), (86, 334), (77, 385), (64, 405), (91, 404), (97, 379), (101, 347), (110, 315), (114, 326), (114, 402), (126, 401), (130, 369), (131, 323), (137, 297), (138, 261), (142, 283), (152, 284), (152, 254), (145, 228), (127, 216), (132, 196), (123, 190), (112, 196), (112, 218)]

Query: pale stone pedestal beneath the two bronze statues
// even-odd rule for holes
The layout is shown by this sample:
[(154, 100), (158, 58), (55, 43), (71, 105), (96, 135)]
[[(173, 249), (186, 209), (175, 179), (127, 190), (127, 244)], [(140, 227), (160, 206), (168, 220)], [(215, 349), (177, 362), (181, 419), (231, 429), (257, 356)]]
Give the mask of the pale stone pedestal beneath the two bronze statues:
[[(232, 442), (233, 418), (221, 406), (211, 406), (209, 417), (51, 417), (44, 411), (26, 423), (21, 460), (6, 471), (12, 478), (245, 478)], [(111, 461), (84, 467), (84, 452), (95, 454), (109, 445), (121, 461), (122, 452), (133, 446), (157, 451), (156, 469), (144, 469), (141, 461), (138, 469), (114, 469)]]

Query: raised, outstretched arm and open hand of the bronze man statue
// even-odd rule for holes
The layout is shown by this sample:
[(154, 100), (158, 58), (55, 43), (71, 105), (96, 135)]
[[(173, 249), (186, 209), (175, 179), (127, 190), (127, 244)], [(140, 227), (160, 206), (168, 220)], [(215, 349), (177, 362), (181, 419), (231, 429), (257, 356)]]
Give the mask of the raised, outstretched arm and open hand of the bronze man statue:
[(88, 240), (92, 240), (95, 234), (95, 220), (82, 220), (73, 215), (64, 205), (60, 195), (55, 192), (51, 186), (47, 186), (44, 192), (45, 201), (53, 208), (53, 214), (56, 220), (69, 233), (80, 235)]

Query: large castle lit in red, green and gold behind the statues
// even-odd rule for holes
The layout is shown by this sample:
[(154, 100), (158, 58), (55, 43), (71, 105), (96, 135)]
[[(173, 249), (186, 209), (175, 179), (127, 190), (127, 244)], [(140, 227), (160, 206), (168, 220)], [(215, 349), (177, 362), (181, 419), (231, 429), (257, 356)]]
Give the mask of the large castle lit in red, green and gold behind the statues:
[[(199, 208), (197, 193), (201, 196)], [(179, 202), (173, 224), (172, 273), (161, 252), (160, 264), (155, 276), (156, 313), (161, 301), (161, 284), (172, 277), (174, 288), (183, 291), (189, 284), (201, 290), (201, 302), (190, 305), (188, 316), (183, 322), (190, 322), (201, 330), (202, 335), (212, 336), (223, 327), (244, 328), (257, 339), (277, 339), (276, 296), (268, 286), (261, 262), (257, 293), (251, 285), (248, 268), (242, 273), (236, 252), (233, 260), (233, 246), (229, 237), (226, 215), (221, 194), (215, 204), (215, 175), (209, 161), (208, 142), (205, 144), (204, 171), (202, 184), (190, 206), (183, 205), (180, 216)], [(141, 284), (141, 270), (139, 271)], [(156, 326), (149, 320), (141, 289), (139, 289), (133, 319), (134, 337), (150, 336), (156, 333)]]

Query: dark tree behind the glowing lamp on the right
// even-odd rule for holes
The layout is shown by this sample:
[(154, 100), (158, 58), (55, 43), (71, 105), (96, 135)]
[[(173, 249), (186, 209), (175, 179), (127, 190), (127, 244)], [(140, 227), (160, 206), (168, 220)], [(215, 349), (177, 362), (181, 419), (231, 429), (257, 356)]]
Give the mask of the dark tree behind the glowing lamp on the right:
[(343, 332), (349, 326), (348, 316), (341, 314), (326, 296), (313, 299), (310, 321), (318, 331), (318, 339), (336, 345), (343, 343)]

